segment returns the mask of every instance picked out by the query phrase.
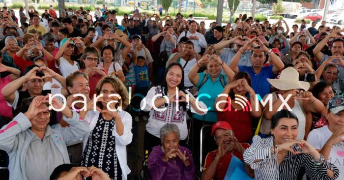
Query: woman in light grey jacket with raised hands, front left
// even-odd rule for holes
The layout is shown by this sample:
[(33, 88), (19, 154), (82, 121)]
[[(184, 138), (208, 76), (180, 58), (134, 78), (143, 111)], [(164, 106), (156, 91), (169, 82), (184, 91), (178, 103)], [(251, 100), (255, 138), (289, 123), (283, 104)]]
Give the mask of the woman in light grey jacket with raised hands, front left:
[(10, 180), (49, 180), (58, 165), (70, 163), (66, 145), (78, 142), (89, 132), (86, 121), (63, 107), (57, 98), (51, 105), (62, 110), (63, 120), (70, 126), (48, 125), (48, 97), (25, 99), (19, 109), (26, 112), (0, 129), (0, 150), (8, 153)]

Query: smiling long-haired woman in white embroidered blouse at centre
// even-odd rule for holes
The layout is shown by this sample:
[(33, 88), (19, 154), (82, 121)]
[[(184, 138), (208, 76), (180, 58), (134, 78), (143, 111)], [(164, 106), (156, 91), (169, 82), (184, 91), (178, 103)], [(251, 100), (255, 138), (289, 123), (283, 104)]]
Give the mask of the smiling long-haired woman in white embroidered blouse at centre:
[(186, 111), (188, 108), (191, 109), (192, 113), (199, 115), (207, 113), (205, 104), (196, 101), (189, 91), (184, 90), (184, 71), (179, 63), (171, 63), (167, 67), (163, 85), (152, 87), (141, 101), (140, 107), (143, 111), (150, 111), (146, 131), (144, 132), (146, 155), (150, 153), (152, 147), (160, 144), (160, 129), (169, 123), (178, 126), (180, 144), (185, 146), (183, 140), (188, 135), (186, 124)]

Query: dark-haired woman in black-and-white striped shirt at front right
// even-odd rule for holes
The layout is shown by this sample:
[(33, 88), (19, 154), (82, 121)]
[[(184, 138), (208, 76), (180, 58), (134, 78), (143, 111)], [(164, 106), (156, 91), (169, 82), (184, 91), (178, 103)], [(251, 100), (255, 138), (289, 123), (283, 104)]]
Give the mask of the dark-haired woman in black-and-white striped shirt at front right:
[(256, 180), (296, 180), (304, 168), (311, 180), (334, 180), (339, 176), (336, 166), (305, 140), (296, 140), (298, 119), (283, 109), (271, 119), (271, 134), (255, 136), (244, 152), (244, 161), (255, 171)]

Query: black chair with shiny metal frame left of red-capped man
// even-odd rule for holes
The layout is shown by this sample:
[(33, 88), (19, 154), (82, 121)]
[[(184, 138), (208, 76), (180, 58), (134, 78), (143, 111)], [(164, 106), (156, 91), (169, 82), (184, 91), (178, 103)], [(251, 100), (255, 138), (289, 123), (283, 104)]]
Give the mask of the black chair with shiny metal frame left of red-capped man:
[(203, 170), (205, 157), (208, 152), (217, 150), (217, 145), (214, 137), (211, 135), (211, 124), (203, 125), (201, 128), (201, 144), (200, 144), (200, 171)]

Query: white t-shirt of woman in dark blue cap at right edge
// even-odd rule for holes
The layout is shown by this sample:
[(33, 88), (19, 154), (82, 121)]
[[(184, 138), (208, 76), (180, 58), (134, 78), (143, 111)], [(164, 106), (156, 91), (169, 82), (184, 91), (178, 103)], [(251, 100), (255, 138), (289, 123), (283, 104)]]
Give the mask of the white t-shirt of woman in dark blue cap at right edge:
[[(321, 150), (332, 134), (328, 126), (323, 126), (312, 130), (308, 134), (307, 142), (315, 149)], [(337, 180), (344, 180), (344, 142), (339, 142), (332, 146), (327, 161), (337, 166), (339, 169), (340, 173)]]

